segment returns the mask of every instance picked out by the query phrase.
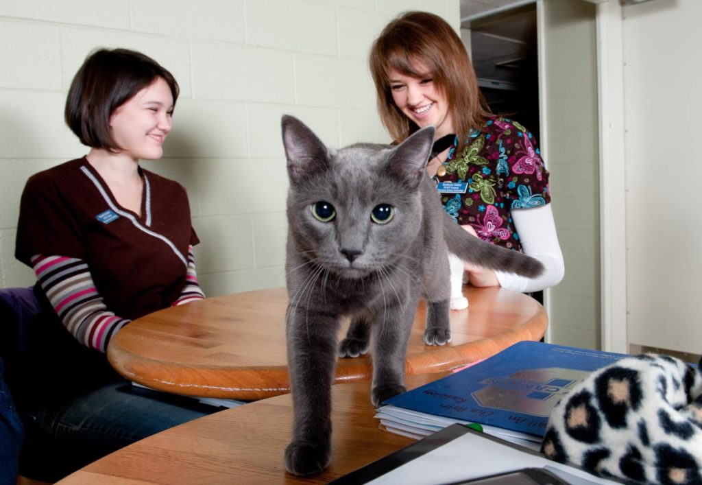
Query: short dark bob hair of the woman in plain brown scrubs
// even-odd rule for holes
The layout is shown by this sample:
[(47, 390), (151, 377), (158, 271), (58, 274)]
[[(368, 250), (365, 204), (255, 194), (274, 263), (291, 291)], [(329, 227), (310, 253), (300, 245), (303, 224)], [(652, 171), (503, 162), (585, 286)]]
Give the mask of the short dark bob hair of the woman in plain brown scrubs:
[(110, 116), (159, 77), (171, 88), (175, 106), (179, 92), (176, 78), (152, 58), (125, 48), (91, 53), (68, 90), (66, 124), (84, 145), (119, 150), (110, 134)]

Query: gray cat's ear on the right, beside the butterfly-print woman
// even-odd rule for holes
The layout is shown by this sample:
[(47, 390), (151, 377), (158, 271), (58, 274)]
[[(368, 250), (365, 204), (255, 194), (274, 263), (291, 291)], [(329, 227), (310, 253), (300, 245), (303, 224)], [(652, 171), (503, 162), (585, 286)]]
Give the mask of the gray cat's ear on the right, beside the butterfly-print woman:
[(400, 143), (390, 154), (390, 172), (406, 181), (410, 188), (416, 188), (425, 177), (434, 134), (434, 127), (424, 127)]

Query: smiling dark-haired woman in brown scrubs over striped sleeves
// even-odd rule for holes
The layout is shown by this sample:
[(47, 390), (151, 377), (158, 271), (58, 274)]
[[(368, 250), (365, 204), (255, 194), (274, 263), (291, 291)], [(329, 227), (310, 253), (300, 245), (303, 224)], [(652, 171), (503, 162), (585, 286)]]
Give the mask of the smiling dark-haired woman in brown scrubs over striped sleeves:
[(88, 154), (29, 178), (15, 257), (34, 270), (35, 385), (21, 396), (53, 444), (55, 481), (107, 453), (204, 415), (136, 394), (107, 362), (134, 318), (204, 298), (183, 186), (140, 167), (173, 127), (178, 83), (142, 53), (100, 49), (70, 86), (65, 121)]

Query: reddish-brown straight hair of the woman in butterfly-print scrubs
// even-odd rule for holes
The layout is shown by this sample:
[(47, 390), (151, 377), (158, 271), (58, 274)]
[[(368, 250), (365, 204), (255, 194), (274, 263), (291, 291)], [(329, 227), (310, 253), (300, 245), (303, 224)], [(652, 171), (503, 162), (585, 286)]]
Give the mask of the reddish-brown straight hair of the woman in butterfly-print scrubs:
[[(419, 128), (392, 101), (390, 69), (411, 77), (431, 77), (446, 97), (458, 148), (471, 128), (481, 127), (491, 112), (478, 89), (475, 70), (456, 31), (438, 15), (406, 12), (385, 26), (373, 42), (369, 65), (376, 84), (378, 113), (396, 143)], [(425, 67), (428, 72), (419, 72)]]

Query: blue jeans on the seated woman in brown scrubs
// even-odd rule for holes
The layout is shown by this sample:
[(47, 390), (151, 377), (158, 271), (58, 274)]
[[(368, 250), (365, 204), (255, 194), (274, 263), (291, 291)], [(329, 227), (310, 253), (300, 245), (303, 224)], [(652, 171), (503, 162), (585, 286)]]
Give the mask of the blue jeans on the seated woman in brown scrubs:
[(36, 424), (59, 451), (62, 474), (69, 474), (128, 444), (216, 410), (204, 410), (206, 406), (197, 401), (170, 394), (154, 396), (131, 392), (128, 382), (110, 384), (56, 409), (40, 410)]

